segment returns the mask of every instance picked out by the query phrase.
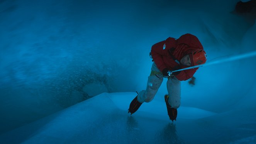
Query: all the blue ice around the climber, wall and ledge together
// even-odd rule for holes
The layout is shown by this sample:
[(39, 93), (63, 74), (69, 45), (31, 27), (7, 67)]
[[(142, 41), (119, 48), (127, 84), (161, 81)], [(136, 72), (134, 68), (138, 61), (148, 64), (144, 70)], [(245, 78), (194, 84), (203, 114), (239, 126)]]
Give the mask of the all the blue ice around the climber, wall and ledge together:
[(156, 42), (194, 34), (207, 62), (256, 51), (255, 20), (233, 12), (238, 1), (0, 0), (0, 143), (256, 143), (255, 56), (181, 81), (174, 124), (166, 79), (127, 114)]

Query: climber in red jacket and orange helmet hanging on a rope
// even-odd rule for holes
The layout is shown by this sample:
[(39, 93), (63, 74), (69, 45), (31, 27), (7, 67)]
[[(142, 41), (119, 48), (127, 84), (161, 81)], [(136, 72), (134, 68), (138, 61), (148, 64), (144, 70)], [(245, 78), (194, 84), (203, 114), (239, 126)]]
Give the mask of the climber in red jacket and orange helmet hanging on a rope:
[(181, 100), (180, 81), (192, 78), (198, 68), (172, 71), (204, 64), (207, 55), (201, 42), (192, 34), (184, 34), (178, 39), (168, 37), (165, 41), (154, 44), (150, 54), (153, 64), (146, 90), (140, 91), (132, 100), (128, 113), (132, 115), (142, 103), (151, 102), (163, 82), (163, 78), (168, 78), (168, 95), (164, 96), (164, 100), (170, 120), (176, 120), (177, 108), (180, 107)]

